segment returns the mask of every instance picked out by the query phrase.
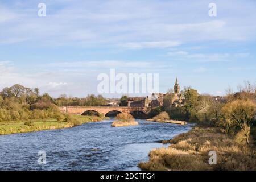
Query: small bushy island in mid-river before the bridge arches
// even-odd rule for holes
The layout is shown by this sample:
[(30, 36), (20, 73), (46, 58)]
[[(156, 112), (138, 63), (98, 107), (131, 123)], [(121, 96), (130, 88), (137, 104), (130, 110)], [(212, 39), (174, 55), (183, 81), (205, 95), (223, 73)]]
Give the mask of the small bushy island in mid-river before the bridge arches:
[(111, 126), (113, 127), (121, 127), (121, 126), (133, 126), (138, 125), (138, 122), (135, 122), (133, 116), (129, 113), (119, 113), (115, 117), (115, 121)]

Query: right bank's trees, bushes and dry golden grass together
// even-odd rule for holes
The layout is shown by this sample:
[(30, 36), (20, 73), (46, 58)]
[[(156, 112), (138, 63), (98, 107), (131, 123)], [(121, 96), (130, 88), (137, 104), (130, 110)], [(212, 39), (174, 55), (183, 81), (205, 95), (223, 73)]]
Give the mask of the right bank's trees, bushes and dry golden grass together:
[[(152, 150), (148, 162), (138, 166), (143, 170), (256, 170), (255, 93), (255, 86), (245, 82), (238, 92), (228, 89), (225, 100), (218, 101), (185, 88), (183, 107), (161, 111), (196, 122), (196, 127), (164, 140), (171, 145)], [(216, 152), (217, 164), (209, 164), (210, 151)]]

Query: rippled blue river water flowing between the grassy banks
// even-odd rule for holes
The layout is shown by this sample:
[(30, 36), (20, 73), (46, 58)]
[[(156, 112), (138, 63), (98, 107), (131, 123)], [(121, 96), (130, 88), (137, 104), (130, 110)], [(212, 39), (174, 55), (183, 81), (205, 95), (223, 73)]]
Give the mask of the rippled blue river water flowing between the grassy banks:
[[(137, 164), (148, 160), (153, 148), (168, 147), (155, 141), (192, 127), (141, 119), (138, 126), (111, 127), (112, 122), (0, 135), (0, 170), (139, 170)], [(39, 151), (46, 164), (38, 163)]]

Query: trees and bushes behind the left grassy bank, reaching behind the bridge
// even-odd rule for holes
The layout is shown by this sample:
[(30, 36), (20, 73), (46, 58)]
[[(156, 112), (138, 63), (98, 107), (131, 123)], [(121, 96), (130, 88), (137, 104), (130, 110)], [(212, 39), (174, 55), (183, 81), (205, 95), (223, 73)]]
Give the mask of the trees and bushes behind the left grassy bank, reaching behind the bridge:
[(93, 94), (86, 98), (72, 98), (64, 94), (52, 98), (48, 93), (41, 95), (39, 88), (15, 84), (0, 92), (0, 122), (49, 118), (62, 121), (65, 115), (60, 113), (58, 106), (100, 106), (105, 103), (104, 97)]

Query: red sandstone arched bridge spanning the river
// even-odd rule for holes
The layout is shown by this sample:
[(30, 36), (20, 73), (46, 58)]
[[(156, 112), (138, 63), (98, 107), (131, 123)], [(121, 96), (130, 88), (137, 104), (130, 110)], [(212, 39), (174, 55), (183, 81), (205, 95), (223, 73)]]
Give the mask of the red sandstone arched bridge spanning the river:
[(144, 114), (148, 114), (148, 109), (146, 107), (105, 107), (105, 106), (63, 106), (59, 107), (61, 112), (82, 115), (86, 111), (96, 111), (99, 114), (106, 115), (111, 111), (118, 111), (119, 113), (133, 113), (133, 112), (142, 112)]

